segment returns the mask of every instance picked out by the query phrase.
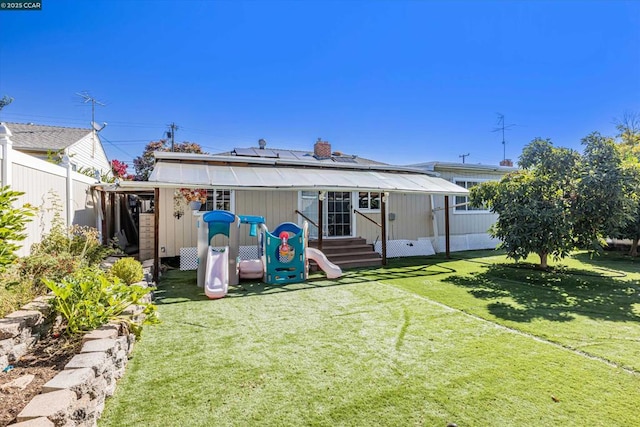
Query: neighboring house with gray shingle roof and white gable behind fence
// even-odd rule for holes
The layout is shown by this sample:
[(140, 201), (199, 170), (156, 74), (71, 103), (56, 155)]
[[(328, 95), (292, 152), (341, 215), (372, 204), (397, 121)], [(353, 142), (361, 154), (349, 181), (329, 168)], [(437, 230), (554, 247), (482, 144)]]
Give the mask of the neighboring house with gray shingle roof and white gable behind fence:
[(11, 131), (14, 150), (43, 160), (67, 154), (74, 171), (111, 171), (100, 136), (93, 129), (9, 122), (5, 126)]

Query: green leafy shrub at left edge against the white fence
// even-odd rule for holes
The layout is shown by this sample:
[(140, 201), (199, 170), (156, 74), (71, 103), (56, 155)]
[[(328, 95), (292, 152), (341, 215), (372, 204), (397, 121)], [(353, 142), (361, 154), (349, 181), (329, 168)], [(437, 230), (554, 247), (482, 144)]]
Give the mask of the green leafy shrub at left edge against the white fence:
[(31, 221), (35, 208), (26, 204), (16, 208), (13, 204), (24, 193), (13, 191), (8, 186), (0, 188), (0, 269), (16, 259), (15, 251), (23, 241), (26, 223)]

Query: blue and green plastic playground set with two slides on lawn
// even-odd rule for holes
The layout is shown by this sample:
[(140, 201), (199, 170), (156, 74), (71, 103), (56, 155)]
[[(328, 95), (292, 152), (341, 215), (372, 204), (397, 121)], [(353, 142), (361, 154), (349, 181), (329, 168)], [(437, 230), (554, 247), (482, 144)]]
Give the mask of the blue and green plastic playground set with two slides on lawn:
[[(240, 260), (240, 226), (249, 225), (249, 235), (257, 238), (259, 258)], [(342, 276), (342, 270), (324, 253), (308, 247), (308, 226), (283, 222), (269, 232), (264, 217), (236, 215), (215, 210), (198, 220), (198, 286), (212, 299), (227, 295), (229, 285), (240, 279), (262, 280), (268, 284), (299, 283), (307, 280), (309, 260), (318, 264), (329, 279)], [(226, 236), (227, 246), (211, 245), (215, 236)]]

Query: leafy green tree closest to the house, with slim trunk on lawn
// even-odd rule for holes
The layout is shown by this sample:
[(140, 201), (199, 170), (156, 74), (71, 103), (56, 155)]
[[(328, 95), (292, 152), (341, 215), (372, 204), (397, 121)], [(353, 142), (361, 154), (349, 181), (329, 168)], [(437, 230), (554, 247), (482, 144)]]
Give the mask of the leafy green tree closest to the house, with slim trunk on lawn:
[(577, 162), (577, 153), (537, 138), (520, 156), (522, 170), (471, 189), (474, 205), (499, 215), (489, 232), (510, 258), (535, 253), (546, 268), (549, 255), (562, 258), (574, 248), (568, 184)]

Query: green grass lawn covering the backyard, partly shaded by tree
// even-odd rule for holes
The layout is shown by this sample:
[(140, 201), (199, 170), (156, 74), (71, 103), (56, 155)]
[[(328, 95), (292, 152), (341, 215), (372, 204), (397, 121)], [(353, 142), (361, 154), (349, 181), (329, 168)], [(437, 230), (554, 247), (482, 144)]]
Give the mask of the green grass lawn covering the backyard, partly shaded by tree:
[(100, 425), (640, 425), (640, 264), (454, 256), (217, 301), (169, 271)]

